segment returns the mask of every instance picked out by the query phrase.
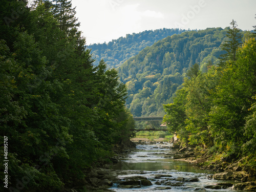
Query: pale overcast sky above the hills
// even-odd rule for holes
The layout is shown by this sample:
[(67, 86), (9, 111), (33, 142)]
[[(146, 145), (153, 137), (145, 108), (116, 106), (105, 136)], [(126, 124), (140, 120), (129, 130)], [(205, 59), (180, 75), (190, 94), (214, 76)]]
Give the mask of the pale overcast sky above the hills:
[(87, 45), (160, 28), (256, 25), (256, 0), (72, 0)]

